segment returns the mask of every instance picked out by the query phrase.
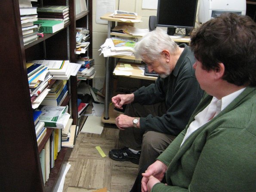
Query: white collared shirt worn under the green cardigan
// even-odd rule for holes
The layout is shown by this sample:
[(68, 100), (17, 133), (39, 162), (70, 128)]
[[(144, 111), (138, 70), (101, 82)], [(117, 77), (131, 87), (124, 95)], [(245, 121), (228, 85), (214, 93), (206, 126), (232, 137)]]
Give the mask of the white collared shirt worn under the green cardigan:
[(234, 93), (231, 93), (221, 99), (213, 97), (210, 104), (204, 108), (200, 113), (194, 117), (194, 121), (188, 127), (188, 130), (183, 138), (183, 141), (180, 146), (185, 142), (185, 140), (198, 128), (212, 120), (217, 116), (222, 110), (224, 110), (239, 94), (244, 91), (245, 88), (242, 88)]

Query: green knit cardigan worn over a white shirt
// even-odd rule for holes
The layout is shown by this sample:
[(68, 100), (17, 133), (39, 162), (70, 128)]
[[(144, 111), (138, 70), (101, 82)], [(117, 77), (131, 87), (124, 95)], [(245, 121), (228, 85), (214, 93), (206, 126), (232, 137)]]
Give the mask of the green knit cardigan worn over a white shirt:
[[(204, 95), (188, 125), (211, 100)], [(247, 87), (180, 147), (188, 125), (157, 158), (168, 165), (168, 186), (157, 183), (151, 192), (256, 191), (255, 87)]]

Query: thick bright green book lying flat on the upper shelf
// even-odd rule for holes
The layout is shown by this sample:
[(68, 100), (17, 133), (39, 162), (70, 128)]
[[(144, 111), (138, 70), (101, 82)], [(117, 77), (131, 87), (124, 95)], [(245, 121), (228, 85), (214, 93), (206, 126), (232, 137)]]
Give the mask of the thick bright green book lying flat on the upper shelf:
[(64, 28), (64, 21), (37, 20), (34, 24), (40, 24), (39, 32), (45, 34), (53, 34)]

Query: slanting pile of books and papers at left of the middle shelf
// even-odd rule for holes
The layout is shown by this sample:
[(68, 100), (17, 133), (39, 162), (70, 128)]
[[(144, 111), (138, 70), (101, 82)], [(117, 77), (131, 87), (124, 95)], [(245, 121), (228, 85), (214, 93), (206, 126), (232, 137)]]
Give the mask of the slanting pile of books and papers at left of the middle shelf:
[(49, 73), (47, 67), (42, 64), (27, 63), (28, 83), (30, 88), (31, 104), (32, 108), (39, 107), (47, 93), (49, 80), (52, 76)]

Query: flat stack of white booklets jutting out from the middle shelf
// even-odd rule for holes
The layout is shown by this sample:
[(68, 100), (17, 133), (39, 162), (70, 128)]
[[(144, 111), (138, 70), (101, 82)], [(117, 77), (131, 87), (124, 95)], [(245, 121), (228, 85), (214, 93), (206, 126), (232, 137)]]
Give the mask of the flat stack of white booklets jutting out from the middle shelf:
[(69, 61), (61, 60), (33, 60), (29, 63), (43, 64), (48, 67), (52, 79), (68, 80), (71, 76), (71, 67)]

